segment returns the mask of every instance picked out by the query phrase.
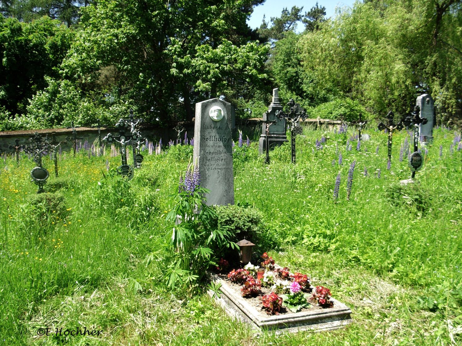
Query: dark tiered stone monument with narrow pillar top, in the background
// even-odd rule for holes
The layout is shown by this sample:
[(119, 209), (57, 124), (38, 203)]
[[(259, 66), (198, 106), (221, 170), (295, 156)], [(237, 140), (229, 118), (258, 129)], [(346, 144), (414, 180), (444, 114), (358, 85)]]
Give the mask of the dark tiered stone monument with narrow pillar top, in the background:
[[(273, 100), (268, 107), (268, 110), (263, 113), (263, 120), (276, 121), (275, 124), (269, 127), (268, 146), (273, 148), (287, 142), (286, 136), (286, 119), (280, 120), (274, 113), (282, 111), (282, 105), (279, 102), (279, 89), (273, 89)], [(261, 135), (258, 141), (258, 152), (260, 154), (266, 152), (266, 126), (261, 125)]]

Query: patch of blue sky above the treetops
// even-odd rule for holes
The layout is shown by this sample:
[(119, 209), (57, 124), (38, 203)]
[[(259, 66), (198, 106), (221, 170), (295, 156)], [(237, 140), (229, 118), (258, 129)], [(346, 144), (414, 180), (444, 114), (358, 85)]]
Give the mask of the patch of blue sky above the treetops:
[[(352, 7), (354, 0), (319, 0), (317, 1), (318, 6), (326, 7), (326, 17), (334, 17), (335, 7)], [(284, 7), (290, 11), (292, 6), (302, 7), (302, 13), (310, 10), (311, 7), (316, 6), (316, 0), (266, 0), (263, 5), (256, 6), (254, 12), (247, 21), (247, 24), (252, 29), (258, 28), (263, 20), (263, 15), (266, 15), (266, 21), (269, 21), (271, 17), (279, 17)], [(303, 24), (298, 25), (298, 31), (303, 30)]]

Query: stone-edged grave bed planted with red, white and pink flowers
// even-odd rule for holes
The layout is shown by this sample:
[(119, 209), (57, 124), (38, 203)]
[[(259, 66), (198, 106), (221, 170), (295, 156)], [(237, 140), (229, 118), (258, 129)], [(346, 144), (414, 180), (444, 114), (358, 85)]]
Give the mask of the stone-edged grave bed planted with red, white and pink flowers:
[(223, 297), (217, 299), (230, 315), (254, 327), (294, 331), (334, 329), (351, 322), (351, 310), (332, 298), (328, 288), (311, 286), (306, 274), (292, 274), (266, 253), (261, 258), (261, 267), (249, 263), (227, 274), (226, 261), (220, 261), (221, 273), (213, 280), (221, 284)]

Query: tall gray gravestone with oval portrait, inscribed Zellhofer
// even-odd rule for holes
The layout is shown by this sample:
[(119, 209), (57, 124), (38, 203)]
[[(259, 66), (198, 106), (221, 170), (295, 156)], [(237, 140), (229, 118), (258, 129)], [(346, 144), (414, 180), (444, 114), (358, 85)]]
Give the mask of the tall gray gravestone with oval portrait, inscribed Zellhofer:
[(231, 103), (211, 99), (196, 103), (194, 163), (199, 167), (201, 186), (210, 190), (207, 205), (234, 204), (232, 167)]

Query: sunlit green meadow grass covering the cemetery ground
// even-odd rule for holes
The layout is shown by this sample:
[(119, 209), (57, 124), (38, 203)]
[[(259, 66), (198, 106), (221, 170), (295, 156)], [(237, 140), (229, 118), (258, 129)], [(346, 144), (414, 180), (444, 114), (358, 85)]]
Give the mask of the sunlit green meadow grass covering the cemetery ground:
[[(410, 176), (395, 133), (387, 170), (386, 134), (370, 127), (357, 151), (353, 133), (307, 128), (290, 146), (271, 152), (265, 165), (258, 143), (235, 147), (236, 203), (263, 213), (256, 251), (306, 273), (353, 310), (353, 324), (331, 332), (256, 335), (233, 321), (205, 294), (172, 292), (164, 285), (162, 255), (168, 197), (192, 155), (191, 146), (147, 155), (131, 181), (112, 171), (120, 156), (59, 161), (49, 187), (64, 196), (59, 210), (33, 206), (34, 163), (0, 160), (1, 342), (6, 345), (450, 345), (461, 342), (462, 151), (450, 151), (454, 132), (434, 131), (418, 183)], [(244, 133), (244, 137), (245, 137)], [(316, 139), (327, 141), (316, 149)], [(439, 146), (443, 154), (439, 155)], [(379, 148), (376, 154), (376, 148)], [(411, 143), (412, 147), (412, 143)], [(339, 153), (343, 156), (338, 163)], [(111, 171), (106, 169), (109, 161)], [(356, 160), (350, 200), (347, 172)], [(44, 166), (54, 175), (53, 161)], [(367, 175), (365, 174), (367, 170)], [(380, 171), (379, 171), (380, 170)], [(112, 172), (112, 173), (111, 173)], [(338, 198), (334, 184), (340, 172)], [(377, 173), (380, 172), (380, 178)], [(55, 183), (53, 183), (55, 181)], [(58, 209), (58, 208), (57, 208)], [(162, 254), (162, 252), (160, 252)], [(42, 336), (37, 328), (103, 330), (92, 336)]]

